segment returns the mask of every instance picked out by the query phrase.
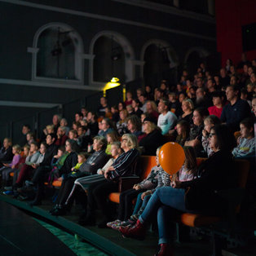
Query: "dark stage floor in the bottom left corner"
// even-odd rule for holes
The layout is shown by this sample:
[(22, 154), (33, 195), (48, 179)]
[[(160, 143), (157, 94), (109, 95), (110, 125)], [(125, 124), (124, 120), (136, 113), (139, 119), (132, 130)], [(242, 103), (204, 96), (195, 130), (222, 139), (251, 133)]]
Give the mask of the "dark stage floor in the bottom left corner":
[(75, 254), (28, 214), (0, 201), (0, 255)]

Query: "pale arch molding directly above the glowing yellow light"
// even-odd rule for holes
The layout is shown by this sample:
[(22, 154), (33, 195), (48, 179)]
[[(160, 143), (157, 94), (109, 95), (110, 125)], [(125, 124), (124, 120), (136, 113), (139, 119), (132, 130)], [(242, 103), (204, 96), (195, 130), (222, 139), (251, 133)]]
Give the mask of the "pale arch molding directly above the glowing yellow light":
[(135, 53), (133, 47), (130, 45), (130, 42), (125, 38), (121, 33), (117, 33), (114, 31), (104, 30), (95, 34), (95, 37), (92, 38), (90, 42), (89, 55), (93, 56), (90, 58), (90, 74), (89, 74), (89, 84), (95, 86), (103, 86), (103, 82), (97, 82), (93, 80), (93, 62), (94, 62), (94, 54), (93, 50), (95, 47), (95, 42), (101, 37), (113, 38), (115, 42), (117, 42), (125, 54), (125, 75), (126, 81), (121, 82), (130, 82), (135, 79)]

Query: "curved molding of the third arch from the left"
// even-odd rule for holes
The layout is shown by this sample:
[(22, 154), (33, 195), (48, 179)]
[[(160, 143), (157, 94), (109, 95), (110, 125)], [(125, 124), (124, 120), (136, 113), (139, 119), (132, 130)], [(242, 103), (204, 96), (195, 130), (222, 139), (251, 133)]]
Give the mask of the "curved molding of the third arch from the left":
[(148, 42), (146, 42), (143, 47), (142, 47), (142, 50), (141, 50), (141, 53), (140, 53), (140, 60), (141, 60), (141, 64), (140, 65), (140, 77), (143, 77), (143, 69), (144, 69), (144, 55), (145, 55), (145, 52), (148, 48), (148, 46), (151, 46), (151, 45), (156, 45), (157, 47), (158, 46), (161, 46), (163, 48), (166, 48), (167, 49), (167, 55), (168, 55), (168, 58), (170, 60), (170, 68), (174, 68), (176, 66), (178, 66), (179, 64), (179, 56), (177, 55), (176, 51), (174, 51), (174, 47), (170, 45), (169, 42), (166, 42), (164, 40), (161, 40), (161, 39), (151, 39), (151, 40), (148, 40)]

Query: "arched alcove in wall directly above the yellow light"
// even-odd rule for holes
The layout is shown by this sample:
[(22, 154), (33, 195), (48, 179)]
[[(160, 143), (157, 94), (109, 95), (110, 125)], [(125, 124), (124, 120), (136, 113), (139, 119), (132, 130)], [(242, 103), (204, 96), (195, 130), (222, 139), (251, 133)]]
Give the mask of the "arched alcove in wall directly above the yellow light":
[(97, 33), (90, 43), (90, 82), (108, 82), (118, 77), (120, 82), (134, 79), (134, 51), (130, 42), (112, 31)]

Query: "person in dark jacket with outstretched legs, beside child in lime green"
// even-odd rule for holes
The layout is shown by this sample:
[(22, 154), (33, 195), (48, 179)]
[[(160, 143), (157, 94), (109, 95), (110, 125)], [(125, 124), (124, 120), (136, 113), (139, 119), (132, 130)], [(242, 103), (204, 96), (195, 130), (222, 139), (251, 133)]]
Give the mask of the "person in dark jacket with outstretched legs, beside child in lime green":
[(72, 192), (73, 184), (77, 178), (96, 174), (97, 170), (105, 165), (108, 161), (108, 156), (105, 153), (106, 147), (107, 140), (103, 136), (96, 136), (93, 143), (93, 149), (95, 152), (82, 163), (75, 174), (72, 174), (71, 168), (76, 166), (77, 162), (70, 167), (69, 174), (65, 175), (61, 183), (60, 192), (55, 201), (55, 206), (51, 210), (52, 214), (57, 215), (64, 211), (64, 204), (67, 201), (70, 192)]

